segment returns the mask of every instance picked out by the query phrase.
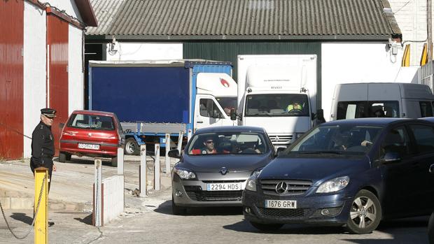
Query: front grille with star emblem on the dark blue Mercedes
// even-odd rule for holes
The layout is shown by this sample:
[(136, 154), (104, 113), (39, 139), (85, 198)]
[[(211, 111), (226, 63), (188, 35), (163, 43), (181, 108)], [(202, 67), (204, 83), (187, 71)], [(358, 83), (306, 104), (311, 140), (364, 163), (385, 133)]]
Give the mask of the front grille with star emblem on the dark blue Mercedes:
[[(286, 192), (278, 194), (276, 192), (276, 185), (280, 182), (285, 182)], [(312, 185), (310, 180), (260, 180), (262, 192), (267, 195), (274, 196), (295, 196), (304, 194)]]

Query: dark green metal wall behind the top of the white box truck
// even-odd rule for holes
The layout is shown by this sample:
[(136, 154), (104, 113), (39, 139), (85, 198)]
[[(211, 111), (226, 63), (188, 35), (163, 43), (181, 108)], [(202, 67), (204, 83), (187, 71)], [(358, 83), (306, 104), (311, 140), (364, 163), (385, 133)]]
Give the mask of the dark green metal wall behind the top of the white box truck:
[(321, 108), (321, 43), (319, 42), (264, 42), (264, 41), (195, 41), (183, 43), (184, 59), (211, 59), (229, 61), (237, 80), (237, 55), (317, 55), (317, 99)]

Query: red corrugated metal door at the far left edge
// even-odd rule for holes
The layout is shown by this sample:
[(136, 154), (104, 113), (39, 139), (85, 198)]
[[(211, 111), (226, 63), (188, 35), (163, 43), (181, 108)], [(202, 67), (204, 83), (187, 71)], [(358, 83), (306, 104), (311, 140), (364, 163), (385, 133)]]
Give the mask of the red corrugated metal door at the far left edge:
[(0, 159), (23, 155), (23, 35), (24, 2), (0, 0)]

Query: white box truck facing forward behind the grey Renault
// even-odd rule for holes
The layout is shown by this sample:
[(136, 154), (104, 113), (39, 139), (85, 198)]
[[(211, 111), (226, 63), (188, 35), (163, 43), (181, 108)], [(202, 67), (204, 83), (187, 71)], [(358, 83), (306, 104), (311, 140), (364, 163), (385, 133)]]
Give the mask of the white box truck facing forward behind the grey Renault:
[(239, 125), (263, 127), (276, 148), (312, 127), (316, 55), (238, 55), (237, 64)]

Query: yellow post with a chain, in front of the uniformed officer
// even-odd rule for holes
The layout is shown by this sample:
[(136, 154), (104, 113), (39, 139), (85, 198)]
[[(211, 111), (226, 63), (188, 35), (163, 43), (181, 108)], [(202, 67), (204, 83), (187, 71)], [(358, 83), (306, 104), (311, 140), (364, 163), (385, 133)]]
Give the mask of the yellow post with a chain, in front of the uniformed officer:
[[(43, 179), (43, 192), (41, 195), (41, 186)], [(39, 203), (38, 215), (34, 216), (35, 220), (35, 244), (48, 243), (48, 168), (35, 168), (35, 205), (34, 211), (38, 207), (39, 196), (41, 195), (41, 203)]]

